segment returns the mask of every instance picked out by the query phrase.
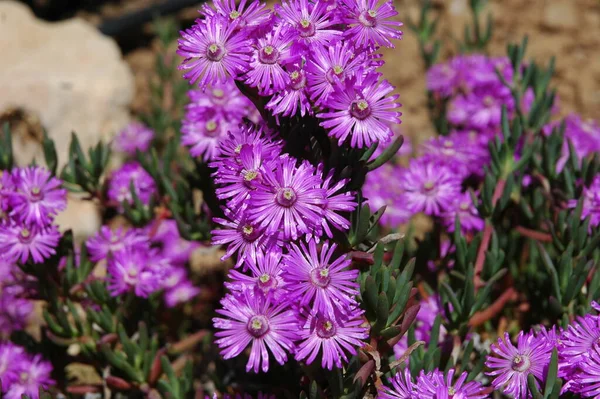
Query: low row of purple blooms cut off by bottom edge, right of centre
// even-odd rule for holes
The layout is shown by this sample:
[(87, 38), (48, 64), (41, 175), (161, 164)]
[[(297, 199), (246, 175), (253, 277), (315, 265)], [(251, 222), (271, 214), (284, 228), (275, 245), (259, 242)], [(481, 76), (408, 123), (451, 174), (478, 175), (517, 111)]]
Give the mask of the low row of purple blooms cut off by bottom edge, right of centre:
[(391, 379), (392, 387), (384, 387), (379, 392), (380, 399), (484, 399), (488, 397), (485, 388), (477, 381), (467, 382), (467, 372), (455, 377), (454, 369), (443, 373), (435, 369), (421, 371), (414, 379), (408, 369), (404, 369)]

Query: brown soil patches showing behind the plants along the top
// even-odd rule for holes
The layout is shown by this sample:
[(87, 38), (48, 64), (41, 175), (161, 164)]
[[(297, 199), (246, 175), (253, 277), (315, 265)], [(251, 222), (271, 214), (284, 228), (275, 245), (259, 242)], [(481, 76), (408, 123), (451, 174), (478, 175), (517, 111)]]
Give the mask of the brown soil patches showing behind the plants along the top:
[[(434, 12), (440, 17), (438, 37), (444, 45), (442, 59), (456, 53), (455, 40), (462, 37), (464, 25), (470, 21), (467, 1), (434, 1)], [(116, 1), (93, 13), (79, 15), (97, 23), (156, 2)], [(396, 0), (395, 3), (399, 20), (417, 19), (419, 0)], [(197, 8), (187, 8), (177, 14), (184, 27), (196, 17)], [(487, 12), (492, 13), (494, 21), (490, 55), (506, 54), (507, 43), (518, 42), (528, 35), (529, 58), (542, 63), (552, 56), (557, 58), (554, 85), (559, 93), (561, 115), (577, 112), (584, 118), (600, 118), (600, 0), (492, 0), (484, 14)], [(138, 47), (131, 45), (131, 37), (119, 38), (120, 44), (125, 43), (122, 45), (124, 57), (136, 79), (134, 114), (148, 109), (148, 82), (153, 77), (158, 48), (149, 27), (142, 31), (144, 39)], [(417, 142), (422, 141), (433, 134), (433, 128), (427, 116), (425, 71), (415, 35), (405, 26), (403, 40), (395, 49), (385, 49), (384, 54), (383, 72), (397, 86), (403, 104), (403, 132)]]

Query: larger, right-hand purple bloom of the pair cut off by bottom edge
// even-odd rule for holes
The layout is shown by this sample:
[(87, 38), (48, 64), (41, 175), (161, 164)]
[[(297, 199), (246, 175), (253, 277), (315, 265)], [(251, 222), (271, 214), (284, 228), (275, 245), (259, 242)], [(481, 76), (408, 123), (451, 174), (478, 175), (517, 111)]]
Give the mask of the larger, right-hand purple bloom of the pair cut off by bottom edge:
[(438, 369), (430, 373), (421, 371), (417, 379), (417, 391), (419, 399), (439, 399), (440, 391), (447, 398), (461, 399), (484, 399), (488, 395), (484, 393), (484, 387), (480, 382), (471, 381), (465, 383), (468, 373), (462, 373), (456, 381), (454, 380), (454, 369), (450, 369), (446, 376)]

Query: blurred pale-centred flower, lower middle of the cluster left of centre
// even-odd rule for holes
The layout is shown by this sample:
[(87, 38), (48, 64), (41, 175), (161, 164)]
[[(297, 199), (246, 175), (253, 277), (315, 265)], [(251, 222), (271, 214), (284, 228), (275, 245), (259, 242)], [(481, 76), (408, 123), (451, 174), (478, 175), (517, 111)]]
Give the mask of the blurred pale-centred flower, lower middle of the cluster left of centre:
[(160, 280), (154, 270), (149, 267), (153, 259), (144, 251), (121, 251), (108, 259), (108, 291), (112, 296), (134, 292), (135, 295), (147, 298), (160, 288)]

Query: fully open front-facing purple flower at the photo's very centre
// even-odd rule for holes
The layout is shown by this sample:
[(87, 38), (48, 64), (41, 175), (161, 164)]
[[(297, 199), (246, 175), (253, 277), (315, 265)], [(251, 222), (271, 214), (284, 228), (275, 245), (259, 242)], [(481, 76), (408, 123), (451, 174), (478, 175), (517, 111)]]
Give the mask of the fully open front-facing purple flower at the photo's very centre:
[(295, 240), (322, 223), (325, 190), (308, 162), (296, 166), (287, 154), (274, 162), (273, 170), (265, 170), (263, 184), (250, 194), (250, 220), (267, 234), (282, 231), (284, 240)]

